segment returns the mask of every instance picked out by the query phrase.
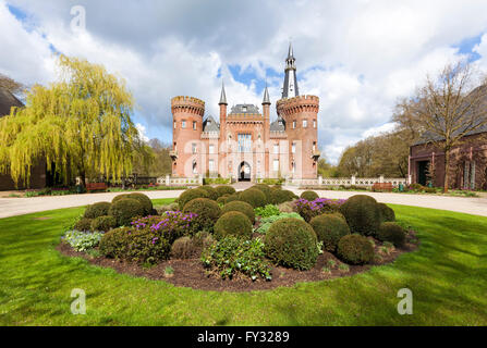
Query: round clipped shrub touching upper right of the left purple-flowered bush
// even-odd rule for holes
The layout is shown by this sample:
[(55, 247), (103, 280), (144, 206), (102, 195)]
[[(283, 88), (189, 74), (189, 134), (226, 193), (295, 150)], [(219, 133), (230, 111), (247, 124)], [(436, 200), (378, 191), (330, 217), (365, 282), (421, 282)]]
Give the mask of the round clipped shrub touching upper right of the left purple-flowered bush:
[(184, 206), (185, 213), (195, 213), (197, 216), (192, 221), (192, 231), (212, 231), (215, 222), (221, 215), (218, 203), (209, 198), (196, 198)]

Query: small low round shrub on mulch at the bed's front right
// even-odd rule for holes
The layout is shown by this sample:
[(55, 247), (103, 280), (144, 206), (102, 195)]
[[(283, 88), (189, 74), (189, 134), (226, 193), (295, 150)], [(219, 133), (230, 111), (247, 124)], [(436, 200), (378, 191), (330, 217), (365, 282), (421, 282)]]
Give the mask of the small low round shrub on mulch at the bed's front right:
[(338, 243), (337, 253), (340, 259), (351, 264), (364, 264), (374, 260), (374, 247), (361, 235), (348, 235)]

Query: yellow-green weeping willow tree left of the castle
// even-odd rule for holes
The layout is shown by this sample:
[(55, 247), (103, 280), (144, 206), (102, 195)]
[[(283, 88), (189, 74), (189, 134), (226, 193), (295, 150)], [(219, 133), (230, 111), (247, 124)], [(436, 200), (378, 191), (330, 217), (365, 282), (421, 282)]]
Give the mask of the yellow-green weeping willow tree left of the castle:
[(131, 120), (133, 107), (124, 80), (101, 65), (60, 55), (58, 82), (34, 86), (25, 108), (0, 120), (0, 172), (27, 184), (44, 158), (65, 184), (76, 176), (84, 184), (95, 174), (120, 181), (134, 157), (147, 156)]

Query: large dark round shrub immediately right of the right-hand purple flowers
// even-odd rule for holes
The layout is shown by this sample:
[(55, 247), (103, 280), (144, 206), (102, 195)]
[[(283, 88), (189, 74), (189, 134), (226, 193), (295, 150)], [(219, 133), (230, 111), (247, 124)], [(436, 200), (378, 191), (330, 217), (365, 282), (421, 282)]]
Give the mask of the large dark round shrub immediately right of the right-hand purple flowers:
[(380, 210), (370, 196), (356, 195), (344, 202), (340, 212), (345, 216), (352, 233), (375, 236), (380, 225)]

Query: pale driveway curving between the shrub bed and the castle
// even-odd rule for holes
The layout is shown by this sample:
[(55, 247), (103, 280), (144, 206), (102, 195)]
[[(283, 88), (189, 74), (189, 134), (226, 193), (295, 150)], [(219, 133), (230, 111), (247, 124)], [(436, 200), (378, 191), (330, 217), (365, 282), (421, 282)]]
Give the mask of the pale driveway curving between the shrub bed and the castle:
[[(244, 187), (245, 186), (245, 187)], [(236, 186), (236, 189), (244, 189), (247, 185)], [(290, 188), (296, 195), (301, 195), (301, 190)], [(175, 198), (181, 195), (180, 190), (167, 191), (144, 191), (151, 199), (157, 198)], [(355, 191), (317, 191), (320, 197), (327, 198), (343, 198), (362, 192)], [(90, 194), (90, 195), (74, 195), (74, 196), (56, 196), (56, 197), (35, 197), (35, 198), (0, 198), (0, 219), (8, 216), (15, 216), (40, 211), (72, 208), (93, 204), (100, 201), (111, 201), (113, 197), (123, 195), (123, 192), (112, 194)], [(487, 198), (466, 198), (466, 197), (448, 197), (448, 196), (433, 196), (433, 195), (407, 195), (407, 194), (380, 194), (380, 192), (364, 192), (377, 199), (379, 202), (404, 204), (413, 207), (433, 208), (456, 211), (462, 213), (487, 216)]]

